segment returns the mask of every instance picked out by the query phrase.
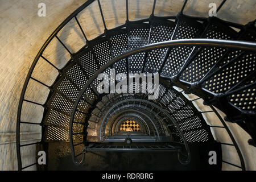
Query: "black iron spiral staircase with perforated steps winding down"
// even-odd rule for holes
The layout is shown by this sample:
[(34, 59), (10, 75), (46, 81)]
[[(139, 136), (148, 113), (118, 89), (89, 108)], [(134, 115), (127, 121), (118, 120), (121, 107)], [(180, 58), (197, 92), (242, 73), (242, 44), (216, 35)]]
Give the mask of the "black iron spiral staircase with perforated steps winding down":
[[(176, 16), (155, 16), (156, 3), (149, 18), (130, 21), (126, 1), (126, 23), (108, 30), (101, 1), (89, 0), (56, 28), (36, 56), (20, 97), (19, 170), (221, 170), (224, 163), (246, 169), (226, 122), (240, 125), (255, 146), (255, 21), (243, 26), (188, 16), (183, 14), (187, 1)], [(92, 5), (98, 6), (105, 31), (88, 40), (79, 15)], [(58, 36), (71, 20), (86, 42), (75, 53)], [(43, 55), (54, 39), (70, 54), (62, 68)], [(52, 85), (33, 77), (39, 60), (59, 72)], [(110, 75), (112, 69), (127, 79), (129, 73), (158, 73), (159, 97), (148, 100), (148, 92), (98, 93), (98, 75)], [(31, 81), (47, 89), (45, 102), (26, 98)], [(127, 85), (126, 90), (142, 91), (143, 84)], [(31, 108), (42, 115), (39, 122), (22, 119), (22, 111)], [(42, 139), (21, 144), (20, 127), (28, 126), (42, 128)], [(218, 139), (223, 133), (230, 142)], [(226, 146), (236, 151), (236, 162), (222, 158)], [(47, 165), (38, 165), (37, 155), (33, 163), (24, 161), (26, 147), (46, 151)], [(210, 151), (217, 152), (217, 165), (208, 163)]]

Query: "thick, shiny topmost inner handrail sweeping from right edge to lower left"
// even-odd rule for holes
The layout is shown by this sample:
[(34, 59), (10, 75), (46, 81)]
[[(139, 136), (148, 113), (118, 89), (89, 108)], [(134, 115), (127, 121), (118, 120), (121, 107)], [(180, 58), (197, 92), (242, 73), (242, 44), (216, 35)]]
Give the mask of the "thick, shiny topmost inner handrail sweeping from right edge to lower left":
[[(146, 52), (150, 51), (152, 49), (158, 49), (158, 48), (170, 48), (170, 47), (183, 47), (183, 46), (207, 46), (207, 47), (221, 47), (221, 48), (233, 48), (233, 49), (243, 49), (243, 50), (249, 50), (249, 51), (256, 51), (256, 43), (253, 42), (241, 42), (241, 41), (233, 41), (233, 40), (211, 40), (211, 39), (181, 39), (181, 40), (170, 40), (167, 42), (159, 42), (155, 44), (149, 44), (147, 46), (139, 47), (137, 49), (127, 51), (123, 53), (122, 55), (119, 55), (115, 57), (114, 59), (110, 60), (108, 63), (106, 63), (103, 67), (98, 69), (98, 71), (89, 78), (88, 82), (84, 85), (84, 87), (81, 89), (79, 95), (77, 96), (77, 99), (75, 101), (75, 105), (72, 110), (71, 114), (71, 120), (69, 123), (69, 141), (71, 144), (71, 151), (72, 151), (72, 159), (75, 163), (76, 160), (74, 158), (75, 151), (73, 148), (73, 120), (77, 111), (77, 106), (79, 105), (79, 102), (84, 95), (86, 89), (89, 88), (89, 86), (92, 84), (94, 80), (100, 75), (100, 73), (104, 72), (106, 69), (108, 69), (110, 66), (112, 66), (114, 63), (117, 63), (117, 61), (122, 59), (127, 59), (127, 57), (131, 55), (135, 55), (140, 52)], [(176, 126), (176, 125), (175, 125)], [(177, 126), (176, 126), (177, 127)], [(179, 129), (179, 126), (178, 128)], [(181, 131), (179, 131), (181, 132)], [(181, 132), (181, 137), (182, 137)], [(184, 137), (184, 136), (183, 136)], [(183, 138), (185, 141), (185, 138)], [(186, 147), (187, 149), (187, 147)], [(187, 150), (188, 151), (188, 150)], [(179, 155), (178, 155), (179, 156)], [(180, 158), (180, 156), (179, 156)]]

